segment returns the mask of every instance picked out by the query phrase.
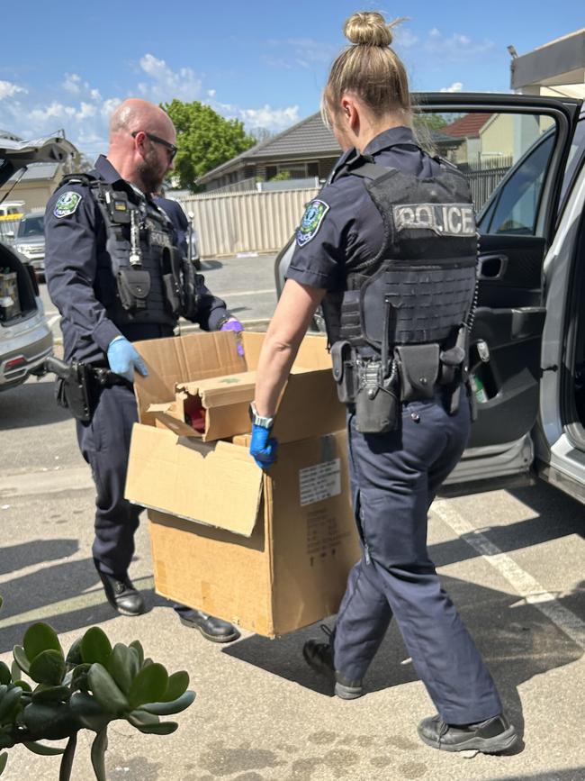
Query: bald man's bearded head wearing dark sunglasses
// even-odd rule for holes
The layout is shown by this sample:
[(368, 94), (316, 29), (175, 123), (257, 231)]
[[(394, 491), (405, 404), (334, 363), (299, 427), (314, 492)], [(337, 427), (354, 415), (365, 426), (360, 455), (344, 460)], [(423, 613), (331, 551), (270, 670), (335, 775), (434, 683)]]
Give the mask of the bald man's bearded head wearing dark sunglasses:
[(107, 157), (122, 179), (153, 193), (173, 167), (175, 141), (175, 125), (160, 106), (130, 97), (112, 114)]

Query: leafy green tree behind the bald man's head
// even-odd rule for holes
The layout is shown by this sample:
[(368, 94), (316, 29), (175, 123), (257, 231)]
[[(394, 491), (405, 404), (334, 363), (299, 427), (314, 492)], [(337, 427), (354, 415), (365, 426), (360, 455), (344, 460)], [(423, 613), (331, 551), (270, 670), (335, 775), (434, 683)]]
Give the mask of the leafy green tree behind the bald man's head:
[(195, 190), (198, 177), (257, 143), (239, 120), (226, 119), (199, 101), (184, 103), (175, 99), (162, 104), (162, 108), (175, 123), (179, 149), (175, 173), (181, 187)]

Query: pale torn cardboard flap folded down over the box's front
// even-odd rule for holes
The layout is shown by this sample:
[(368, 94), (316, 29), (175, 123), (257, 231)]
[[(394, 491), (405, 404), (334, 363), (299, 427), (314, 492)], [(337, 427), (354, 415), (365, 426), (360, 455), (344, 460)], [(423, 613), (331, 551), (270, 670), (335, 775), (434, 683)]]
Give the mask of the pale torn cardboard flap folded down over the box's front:
[(181, 440), (174, 431), (134, 424), (126, 478), (130, 502), (249, 537), (261, 495), (262, 470), (245, 448)]

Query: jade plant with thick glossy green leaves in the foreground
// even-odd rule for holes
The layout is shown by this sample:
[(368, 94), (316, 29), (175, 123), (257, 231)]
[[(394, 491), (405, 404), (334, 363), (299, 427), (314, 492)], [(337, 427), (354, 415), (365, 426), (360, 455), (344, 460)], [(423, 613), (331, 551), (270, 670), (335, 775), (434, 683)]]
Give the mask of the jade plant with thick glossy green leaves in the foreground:
[[(14, 646), (12, 669), (0, 661), (0, 749), (22, 743), (35, 754), (61, 754), (58, 778), (68, 781), (78, 732), (94, 731), (92, 765), (98, 781), (105, 781), (109, 723), (125, 719), (140, 732), (169, 735), (178, 724), (160, 717), (193, 703), (188, 686), (186, 672), (169, 676), (161, 664), (144, 658), (139, 640), (112, 648), (105, 632), (94, 626), (66, 656), (52, 627), (33, 623), (23, 645)], [(67, 745), (63, 749), (42, 740), (67, 740)], [(0, 775), (7, 759), (3, 750)]]

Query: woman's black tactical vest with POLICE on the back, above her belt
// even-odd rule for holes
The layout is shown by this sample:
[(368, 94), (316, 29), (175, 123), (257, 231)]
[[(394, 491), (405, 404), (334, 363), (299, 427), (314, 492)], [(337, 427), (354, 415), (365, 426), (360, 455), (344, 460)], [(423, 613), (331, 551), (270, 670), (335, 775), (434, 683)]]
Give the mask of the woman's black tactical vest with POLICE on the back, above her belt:
[(401, 344), (445, 345), (473, 304), (477, 233), (464, 176), (446, 163), (420, 178), (396, 168), (362, 163), (347, 170), (363, 177), (383, 219), (378, 254), (347, 266), (343, 294), (328, 295), (329, 343), (389, 350)]

